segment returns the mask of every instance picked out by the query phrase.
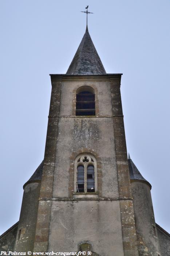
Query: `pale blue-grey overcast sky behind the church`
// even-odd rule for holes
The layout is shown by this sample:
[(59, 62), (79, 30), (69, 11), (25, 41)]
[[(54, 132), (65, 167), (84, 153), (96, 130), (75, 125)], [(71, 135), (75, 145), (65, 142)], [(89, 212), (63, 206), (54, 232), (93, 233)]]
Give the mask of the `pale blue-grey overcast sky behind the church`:
[(23, 184), (44, 158), (51, 81), (86, 29), (107, 73), (123, 73), (127, 150), (170, 233), (170, 1), (0, 1), (0, 234), (19, 220)]

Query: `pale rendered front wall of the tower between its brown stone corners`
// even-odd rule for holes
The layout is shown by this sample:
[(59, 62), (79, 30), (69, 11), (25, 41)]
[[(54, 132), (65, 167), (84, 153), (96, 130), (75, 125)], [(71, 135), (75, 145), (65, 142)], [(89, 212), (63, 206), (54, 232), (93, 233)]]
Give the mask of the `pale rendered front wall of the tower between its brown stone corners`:
[[(81, 86), (95, 90), (97, 117), (75, 117), (74, 100)], [(90, 200), (84, 195), (81, 201), (69, 201), (74, 191), (74, 160), (84, 152), (95, 155), (98, 164), (100, 161), (97, 199), (119, 197), (110, 82), (62, 82), (56, 143), (52, 197), (65, 201), (52, 202), (48, 250), (76, 251), (81, 241), (89, 240), (100, 255), (111, 255), (113, 249), (123, 255), (119, 201), (97, 202), (93, 195)]]

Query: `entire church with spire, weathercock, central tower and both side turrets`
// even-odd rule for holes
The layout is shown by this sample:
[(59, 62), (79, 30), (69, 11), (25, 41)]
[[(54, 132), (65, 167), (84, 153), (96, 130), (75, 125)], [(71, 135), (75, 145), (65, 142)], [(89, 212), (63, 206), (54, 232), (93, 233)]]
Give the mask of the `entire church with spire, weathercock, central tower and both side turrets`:
[(44, 159), (1, 255), (170, 256), (151, 184), (127, 159), (122, 74), (106, 73), (88, 27), (66, 74), (50, 76)]

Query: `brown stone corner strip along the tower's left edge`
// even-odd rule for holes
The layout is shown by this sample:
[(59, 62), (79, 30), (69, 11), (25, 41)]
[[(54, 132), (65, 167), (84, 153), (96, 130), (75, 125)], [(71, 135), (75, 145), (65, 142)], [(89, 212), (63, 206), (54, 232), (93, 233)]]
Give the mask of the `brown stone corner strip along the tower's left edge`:
[[(46, 148), (44, 154), (43, 175), (41, 179), (40, 199), (52, 197), (56, 141), (58, 133), (61, 82), (52, 84), (50, 112), (48, 118)], [(50, 229), (51, 200), (40, 200), (35, 233), (35, 252), (47, 252)]]

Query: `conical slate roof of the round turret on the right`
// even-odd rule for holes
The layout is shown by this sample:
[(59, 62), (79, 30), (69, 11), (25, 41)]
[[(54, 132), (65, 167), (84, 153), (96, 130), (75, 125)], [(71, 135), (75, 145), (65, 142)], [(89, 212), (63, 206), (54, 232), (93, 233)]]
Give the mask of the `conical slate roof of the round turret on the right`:
[(151, 184), (147, 180), (145, 180), (145, 178), (143, 178), (142, 174), (139, 172), (138, 168), (130, 158), (130, 155), (128, 157), (128, 163), (129, 163), (130, 180), (143, 181), (146, 184), (148, 184), (151, 189), (152, 187)]

